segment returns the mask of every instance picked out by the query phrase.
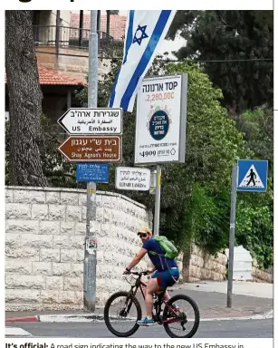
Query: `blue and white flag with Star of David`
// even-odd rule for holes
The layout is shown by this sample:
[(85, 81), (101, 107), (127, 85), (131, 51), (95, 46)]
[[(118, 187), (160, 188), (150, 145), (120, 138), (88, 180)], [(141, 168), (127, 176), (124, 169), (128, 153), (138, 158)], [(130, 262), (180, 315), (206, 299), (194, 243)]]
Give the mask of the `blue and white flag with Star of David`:
[(168, 33), (177, 11), (129, 11), (124, 56), (109, 107), (131, 112), (141, 82)]

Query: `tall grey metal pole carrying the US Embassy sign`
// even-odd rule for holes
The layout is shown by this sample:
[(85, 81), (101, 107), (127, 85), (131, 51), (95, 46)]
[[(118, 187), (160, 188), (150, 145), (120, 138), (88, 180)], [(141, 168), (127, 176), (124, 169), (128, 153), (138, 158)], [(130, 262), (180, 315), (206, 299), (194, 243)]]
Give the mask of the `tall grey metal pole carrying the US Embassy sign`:
[[(97, 13), (91, 11), (91, 33), (89, 41), (89, 82), (88, 108), (98, 106), (98, 34)], [(84, 309), (94, 312), (96, 302), (96, 269), (97, 250), (94, 221), (96, 220), (96, 190), (95, 182), (87, 182), (87, 218), (86, 237), (84, 244), (84, 274), (83, 274), (83, 304)], [(89, 248), (90, 244), (95, 247)]]

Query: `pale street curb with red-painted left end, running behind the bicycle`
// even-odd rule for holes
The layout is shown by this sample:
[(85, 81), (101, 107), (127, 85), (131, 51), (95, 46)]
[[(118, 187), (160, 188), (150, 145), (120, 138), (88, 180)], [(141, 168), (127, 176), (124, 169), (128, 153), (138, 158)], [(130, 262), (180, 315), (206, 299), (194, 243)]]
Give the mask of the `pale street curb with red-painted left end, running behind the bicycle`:
[[(223, 320), (263, 320), (273, 319), (273, 310), (264, 314), (255, 314), (249, 316), (227, 316), (216, 318), (204, 318), (200, 322), (212, 322)], [(35, 315), (7, 318), (5, 323), (23, 323), (23, 322), (41, 322), (41, 323), (91, 323), (103, 322), (103, 314), (54, 314), (54, 315)]]

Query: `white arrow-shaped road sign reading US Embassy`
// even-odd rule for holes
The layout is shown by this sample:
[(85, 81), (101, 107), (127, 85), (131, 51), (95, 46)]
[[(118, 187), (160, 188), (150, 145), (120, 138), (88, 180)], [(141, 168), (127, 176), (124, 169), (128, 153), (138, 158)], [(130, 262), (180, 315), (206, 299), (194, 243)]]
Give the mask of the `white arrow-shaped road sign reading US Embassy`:
[(69, 134), (121, 134), (122, 111), (120, 108), (71, 108), (58, 123)]

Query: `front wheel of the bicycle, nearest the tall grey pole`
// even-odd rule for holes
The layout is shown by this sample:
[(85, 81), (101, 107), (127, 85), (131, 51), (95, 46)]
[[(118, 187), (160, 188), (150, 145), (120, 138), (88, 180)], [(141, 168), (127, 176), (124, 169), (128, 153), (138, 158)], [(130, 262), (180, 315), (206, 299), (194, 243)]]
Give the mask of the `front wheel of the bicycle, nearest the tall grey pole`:
[(139, 329), (137, 321), (142, 317), (139, 301), (126, 291), (111, 295), (104, 307), (104, 322), (110, 333), (129, 337)]

